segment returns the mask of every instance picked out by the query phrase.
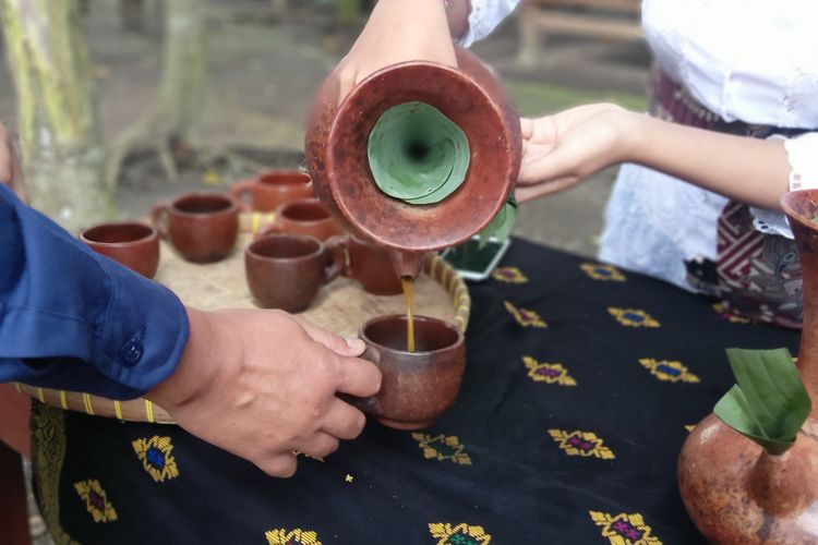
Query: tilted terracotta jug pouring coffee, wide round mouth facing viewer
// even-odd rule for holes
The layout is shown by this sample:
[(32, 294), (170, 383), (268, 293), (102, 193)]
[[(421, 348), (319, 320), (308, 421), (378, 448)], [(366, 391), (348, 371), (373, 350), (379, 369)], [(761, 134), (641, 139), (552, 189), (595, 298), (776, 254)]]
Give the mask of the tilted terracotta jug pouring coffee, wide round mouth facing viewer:
[[(479, 232), (506, 203), (520, 167), (519, 117), (495, 74), (465, 49), (457, 68), (406, 62), (381, 70), (341, 101), (333, 72), (321, 88), (305, 153), (318, 197), (359, 235), (393, 251), (400, 276), (414, 277), (426, 252)], [(460, 186), (434, 204), (412, 205), (378, 189), (368, 142), (390, 108), (422, 102), (436, 108), (468, 138), (470, 158)]]

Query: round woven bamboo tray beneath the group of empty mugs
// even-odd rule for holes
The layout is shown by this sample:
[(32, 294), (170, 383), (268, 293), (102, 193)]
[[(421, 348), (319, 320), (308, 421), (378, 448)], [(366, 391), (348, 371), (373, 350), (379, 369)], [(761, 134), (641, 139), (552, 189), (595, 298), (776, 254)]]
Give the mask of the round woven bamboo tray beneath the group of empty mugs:
[[(225, 261), (195, 265), (183, 261), (163, 243), (161, 261), (156, 280), (164, 283), (185, 305), (204, 311), (228, 307), (255, 307), (244, 279), (244, 247), (254, 233), (270, 225), (275, 216), (268, 213), (248, 213), (240, 217), (242, 234), (236, 250)], [(414, 286), (414, 308), (418, 315), (434, 316), (466, 331), (471, 312), (471, 298), (462, 278), (437, 255), (426, 259), (423, 275)], [(312, 306), (302, 313), (311, 322), (345, 337), (357, 336), (366, 319), (384, 314), (406, 312), (402, 295), (377, 296), (364, 292), (348, 278), (338, 278), (323, 287)], [(116, 401), (91, 393), (38, 388), (15, 384), (19, 391), (44, 403), (94, 416), (172, 424), (161, 407), (139, 398)]]

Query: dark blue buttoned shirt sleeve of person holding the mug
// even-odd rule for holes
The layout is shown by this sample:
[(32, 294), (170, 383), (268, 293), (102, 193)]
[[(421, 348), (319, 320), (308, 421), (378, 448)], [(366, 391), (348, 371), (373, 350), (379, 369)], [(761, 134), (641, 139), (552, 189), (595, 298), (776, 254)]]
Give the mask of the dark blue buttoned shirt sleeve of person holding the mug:
[(189, 330), (170, 290), (0, 184), (0, 382), (139, 397), (176, 370)]

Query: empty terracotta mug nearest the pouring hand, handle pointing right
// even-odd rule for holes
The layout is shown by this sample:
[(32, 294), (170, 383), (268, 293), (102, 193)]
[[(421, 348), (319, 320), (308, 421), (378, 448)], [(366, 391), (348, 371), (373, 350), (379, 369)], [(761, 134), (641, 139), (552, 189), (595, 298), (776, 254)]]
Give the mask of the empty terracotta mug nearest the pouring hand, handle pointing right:
[(336, 278), (346, 256), (314, 237), (270, 234), (248, 246), (244, 270), (253, 296), (265, 308), (306, 310), (322, 286)]

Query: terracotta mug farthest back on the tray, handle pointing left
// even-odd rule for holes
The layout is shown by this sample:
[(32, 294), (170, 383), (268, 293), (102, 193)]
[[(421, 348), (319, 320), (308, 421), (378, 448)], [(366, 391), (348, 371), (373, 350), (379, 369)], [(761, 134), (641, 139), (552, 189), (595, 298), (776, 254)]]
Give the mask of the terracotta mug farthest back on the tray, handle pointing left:
[[(312, 179), (298, 170), (270, 170), (230, 187), (242, 210), (274, 211), (282, 204), (315, 196)], [(249, 197), (250, 203), (245, 202)]]

